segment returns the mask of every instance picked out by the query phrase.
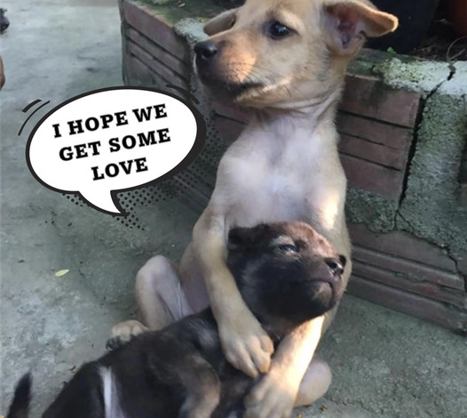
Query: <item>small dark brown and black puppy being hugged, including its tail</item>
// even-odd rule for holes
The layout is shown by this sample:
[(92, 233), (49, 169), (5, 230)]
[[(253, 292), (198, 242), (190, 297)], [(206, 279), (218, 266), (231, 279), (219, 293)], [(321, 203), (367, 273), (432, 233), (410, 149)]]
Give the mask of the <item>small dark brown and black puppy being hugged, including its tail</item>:
[[(227, 266), (274, 342), (336, 306), (345, 259), (309, 225), (230, 231)], [(226, 362), (210, 309), (140, 334), (84, 365), (44, 418), (234, 418), (254, 380)], [(7, 418), (26, 418), (30, 379)]]

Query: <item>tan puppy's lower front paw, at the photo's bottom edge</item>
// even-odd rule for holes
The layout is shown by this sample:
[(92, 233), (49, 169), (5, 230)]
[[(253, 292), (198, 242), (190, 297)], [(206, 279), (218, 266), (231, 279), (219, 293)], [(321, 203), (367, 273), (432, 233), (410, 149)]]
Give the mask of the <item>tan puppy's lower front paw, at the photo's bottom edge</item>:
[(289, 418), (300, 382), (272, 368), (245, 398), (243, 418)]

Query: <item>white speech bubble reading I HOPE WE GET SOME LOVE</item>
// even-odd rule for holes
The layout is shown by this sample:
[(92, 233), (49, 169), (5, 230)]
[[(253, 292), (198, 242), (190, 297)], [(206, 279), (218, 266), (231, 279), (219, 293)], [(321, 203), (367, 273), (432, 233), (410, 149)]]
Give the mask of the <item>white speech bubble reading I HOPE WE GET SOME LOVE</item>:
[(127, 215), (117, 192), (186, 168), (206, 136), (198, 109), (170, 92), (111, 87), (52, 109), (28, 138), (31, 173), (45, 187), (77, 194), (100, 212)]

